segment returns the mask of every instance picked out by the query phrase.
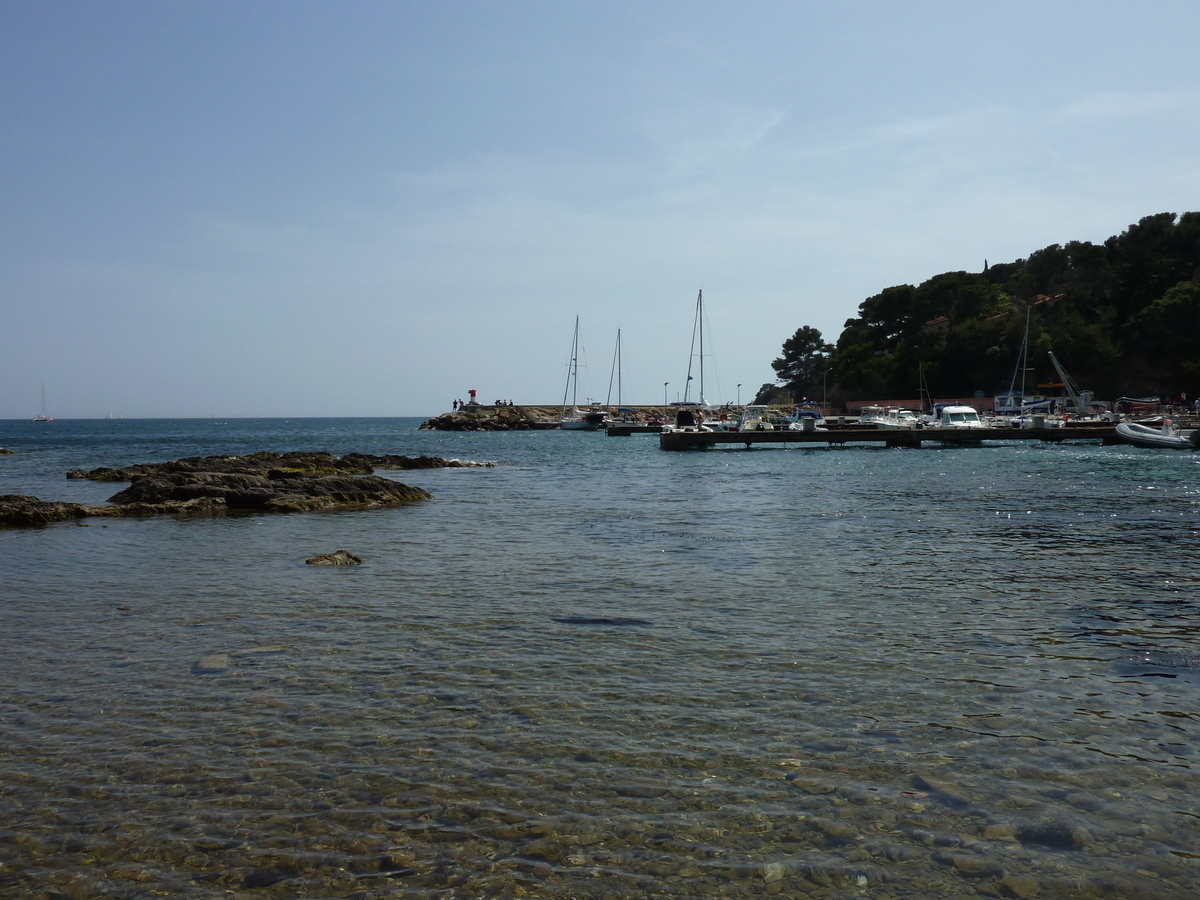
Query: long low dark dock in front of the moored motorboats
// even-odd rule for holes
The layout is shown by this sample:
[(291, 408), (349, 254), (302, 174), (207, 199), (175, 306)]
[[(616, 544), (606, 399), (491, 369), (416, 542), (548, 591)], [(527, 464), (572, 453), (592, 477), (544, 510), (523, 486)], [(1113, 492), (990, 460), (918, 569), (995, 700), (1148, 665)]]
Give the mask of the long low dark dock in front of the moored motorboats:
[[(611, 433), (611, 432), (610, 432)], [(659, 436), (660, 450), (702, 450), (722, 444), (883, 444), (919, 448), (923, 444), (979, 444), (984, 440), (1064, 440), (1120, 443), (1115, 425), (1079, 425), (1061, 428), (829, 428), (828, 431), (707, 431), (667, 432)]]

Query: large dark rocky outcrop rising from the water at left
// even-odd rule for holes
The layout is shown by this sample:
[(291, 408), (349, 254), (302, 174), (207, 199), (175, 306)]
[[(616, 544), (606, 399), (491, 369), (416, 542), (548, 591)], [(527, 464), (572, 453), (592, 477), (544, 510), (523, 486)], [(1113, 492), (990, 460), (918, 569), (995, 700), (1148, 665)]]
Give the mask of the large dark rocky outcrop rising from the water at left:
[(376, 475), (374, 470), (480, 468), (493, 463), (437, 456), (372, 456), (328, 452), (257, 452), (193, 456), (122, 468), (67, 473), (68, 479), (128, 481), (107, 504), (0, 496), (0, 528), (37, 528), (90, 517), (157, 515), (222, 516), (236, 512), (336, 511), (386, 506), (432, 498), (421, 487)]

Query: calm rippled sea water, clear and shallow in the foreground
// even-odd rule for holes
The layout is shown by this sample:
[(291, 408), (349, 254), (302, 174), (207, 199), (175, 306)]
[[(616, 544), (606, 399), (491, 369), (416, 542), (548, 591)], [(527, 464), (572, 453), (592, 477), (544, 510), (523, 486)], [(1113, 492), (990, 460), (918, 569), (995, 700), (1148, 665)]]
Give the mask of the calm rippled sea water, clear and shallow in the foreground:
[(418, 424), (0, 422), (0, 493), (43, 499), (497, 463), (0, 532), (0, 894), (1200, 896), (1200, 454)]

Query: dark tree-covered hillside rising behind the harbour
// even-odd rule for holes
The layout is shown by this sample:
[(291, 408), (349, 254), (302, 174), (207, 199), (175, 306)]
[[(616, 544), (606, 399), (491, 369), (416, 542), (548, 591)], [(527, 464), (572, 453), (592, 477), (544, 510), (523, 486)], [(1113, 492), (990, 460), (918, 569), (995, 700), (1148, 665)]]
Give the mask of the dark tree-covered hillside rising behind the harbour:
[[(760, 397), (916, 397), (1008, 389), (1030, 312), (1027, 386), (1058, 380), (1048, 350), (1097, 397), (1200, 396), (1200, 212), (1147, 216), (1104, 244), (1054, 244), (983, 272), (868, 298), (836, 344), (800, 328)], [(781, 386), (780, 386), (781, 385)]]

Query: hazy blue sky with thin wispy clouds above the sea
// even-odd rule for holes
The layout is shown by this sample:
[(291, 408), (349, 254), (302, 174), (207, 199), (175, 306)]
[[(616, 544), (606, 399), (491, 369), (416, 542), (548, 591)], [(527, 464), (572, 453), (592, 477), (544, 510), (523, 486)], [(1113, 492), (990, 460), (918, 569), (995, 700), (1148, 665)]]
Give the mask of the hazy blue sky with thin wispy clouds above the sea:
[(620, 329), (658, 403), (701, 289), (745, 402), (889, 286), (1200, 209), (1198, 42), (1190, 0), (0, 0), (0, 419), (559, 403), (576, 316), (580, 400)]

